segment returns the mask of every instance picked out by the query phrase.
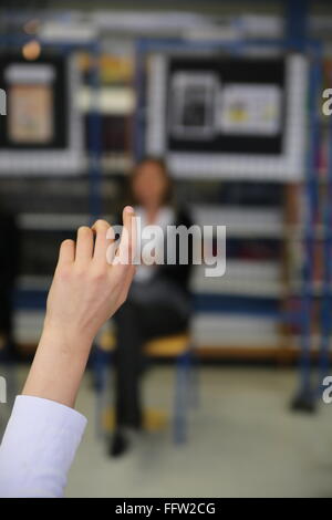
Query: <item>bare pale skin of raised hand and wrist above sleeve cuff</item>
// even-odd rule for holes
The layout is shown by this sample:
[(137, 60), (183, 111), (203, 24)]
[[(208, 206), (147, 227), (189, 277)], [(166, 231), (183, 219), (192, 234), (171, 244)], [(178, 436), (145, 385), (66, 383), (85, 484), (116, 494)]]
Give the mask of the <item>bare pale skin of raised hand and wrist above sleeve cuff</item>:
[[(134, 250), (134, 210), (126, 207), (127, 233), (117, 254)], [(42, 397), (74, 407), (92, 342), (100, 327), (126, 300), (135, 267), (110, 264), (106, 238), (110, 225), (97, 220), (81, 227), (76, 242), (62, 242), (50, 289), (43, 332), (22, 395)], [(94, 240), (95, 235), (95, 240)]]

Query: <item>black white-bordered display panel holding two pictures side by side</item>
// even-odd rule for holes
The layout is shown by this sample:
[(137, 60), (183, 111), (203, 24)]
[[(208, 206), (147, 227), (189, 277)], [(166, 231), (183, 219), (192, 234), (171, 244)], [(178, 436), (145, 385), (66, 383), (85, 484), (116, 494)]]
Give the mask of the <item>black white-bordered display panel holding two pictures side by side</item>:
[(152, 56), (146, 148), (178, 177), (302, 177), (307, 62)]

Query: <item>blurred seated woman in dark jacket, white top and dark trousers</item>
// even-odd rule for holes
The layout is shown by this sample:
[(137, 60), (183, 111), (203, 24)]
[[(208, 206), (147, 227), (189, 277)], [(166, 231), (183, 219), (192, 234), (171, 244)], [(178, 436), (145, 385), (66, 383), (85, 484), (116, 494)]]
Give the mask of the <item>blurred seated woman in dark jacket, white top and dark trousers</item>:
[[(173, 183), (162, 159), (146, 157), (129, 178), (129, 199), (145, 226), (185, 226), (191, 221), (186, 210), (173, 202)], [(167, 243), (165, 243), (165, 249)], [(139, 376), (143, 345), (147, 340), (176, 334), (188, 329), (188, 290), (191, 248), (188, 263), (144, 264), (136, 268), (128, 299), (116, 315), (116, 429), (110, 455), (118, 456), (128, 446), (128, 430), (142, 426)]]

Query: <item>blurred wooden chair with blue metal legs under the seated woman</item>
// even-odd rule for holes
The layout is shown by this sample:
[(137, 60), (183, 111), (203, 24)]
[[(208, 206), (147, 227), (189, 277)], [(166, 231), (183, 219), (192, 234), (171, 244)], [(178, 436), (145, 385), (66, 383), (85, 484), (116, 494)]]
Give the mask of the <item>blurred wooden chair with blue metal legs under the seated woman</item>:
[[(111, 331), (104, 331), (95, 345), (92, 358), (97, 393), (96, 428), (98, 433), (102, 430), (103, 410), (107, 407), (105, 391), (115, 347), (115, 335)], [(176, 444), (184, 443), (187, 440), (188, 407), (198, 404), (197, 365), (190, 336), (185, 332), (148, 341), (144, 345), (144, 353), (148, 357), (176, 360), (173, 436)]]

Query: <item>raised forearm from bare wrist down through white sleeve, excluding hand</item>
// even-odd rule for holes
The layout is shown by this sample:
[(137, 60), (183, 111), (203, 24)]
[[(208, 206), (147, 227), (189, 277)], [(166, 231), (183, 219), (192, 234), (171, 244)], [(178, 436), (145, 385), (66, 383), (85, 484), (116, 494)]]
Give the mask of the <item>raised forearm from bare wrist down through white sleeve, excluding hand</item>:
[[(0, 497), (62, 497), (86, 419), (72, 408), (91, 340), (45, 326), (0, 447)], [(64, 406), (63, 406), (64, 405)]]

